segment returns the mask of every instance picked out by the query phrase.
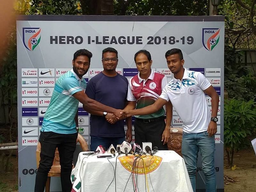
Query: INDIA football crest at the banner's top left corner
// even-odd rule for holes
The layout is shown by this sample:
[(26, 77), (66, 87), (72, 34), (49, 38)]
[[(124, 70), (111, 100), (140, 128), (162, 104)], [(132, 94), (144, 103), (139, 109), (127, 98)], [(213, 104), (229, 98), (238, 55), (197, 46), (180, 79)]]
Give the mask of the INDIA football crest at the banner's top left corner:
[(23, 44), (29, 50), (33, 51), (41, 40), (41, 28), (22, 28)]

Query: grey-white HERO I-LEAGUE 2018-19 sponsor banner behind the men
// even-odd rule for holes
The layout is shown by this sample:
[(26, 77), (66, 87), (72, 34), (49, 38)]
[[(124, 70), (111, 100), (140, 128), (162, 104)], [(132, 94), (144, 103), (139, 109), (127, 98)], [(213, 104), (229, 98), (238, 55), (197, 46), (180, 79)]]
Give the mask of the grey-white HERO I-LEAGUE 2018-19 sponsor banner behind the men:
[[(17, 19), (19, 191), (34, 191), (36, 145), (56, 80), (72, 68), (74, 52), (85, 48), (93, 54), (90, 69), (84, 76), (89, 81), (103, 70), (101, 53), (107, 47), (118, 51), (117, 71), (128, 79), (137, 74), (135, 52), (146, 49), (151, 53), (153, 70), (171, 80), (172, 73), (164, 54), (172, 48), (182, 50), (184, 67), (207, 77), (220, 95), (215, 170), (218, 191), (224, 191), (224, 16), (57, 15)], [(206, 99), (210, 110), (211, 98)], [(81, 105), (78, 111), (79, 131), (89, 144), (90, 114)], [(174, 113), (172, 125), (182, 125), (177, 113)], [(205, 182), (200, 159), (197, 166), (200, 191), (204, 190)], [(51, 191), (61, 191), (59, 178), (51, 181)]]

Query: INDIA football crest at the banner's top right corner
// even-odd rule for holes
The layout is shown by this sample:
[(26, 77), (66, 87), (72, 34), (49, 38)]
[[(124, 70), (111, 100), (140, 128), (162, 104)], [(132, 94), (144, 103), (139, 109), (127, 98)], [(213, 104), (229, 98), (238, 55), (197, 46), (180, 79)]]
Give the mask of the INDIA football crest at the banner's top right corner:
[(212, 51), (213, 48), (219, 43), (219, 40), (219, 28), (203, 28), (202, 43), (205, 49)]

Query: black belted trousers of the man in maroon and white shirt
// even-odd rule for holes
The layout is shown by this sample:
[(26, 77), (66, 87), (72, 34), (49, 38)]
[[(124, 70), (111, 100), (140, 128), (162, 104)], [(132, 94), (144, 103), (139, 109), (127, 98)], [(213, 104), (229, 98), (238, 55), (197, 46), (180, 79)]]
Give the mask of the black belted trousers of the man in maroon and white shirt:
[(142, 147), (142, 142), (151, 142), (152, 147), (158, 147), (158, 150), (168, 150), (167, 144), (163, 145), (162, 134), (165, 129), (164, 117), (155, 119), (139, 119), (134, 122), (135, 143)]

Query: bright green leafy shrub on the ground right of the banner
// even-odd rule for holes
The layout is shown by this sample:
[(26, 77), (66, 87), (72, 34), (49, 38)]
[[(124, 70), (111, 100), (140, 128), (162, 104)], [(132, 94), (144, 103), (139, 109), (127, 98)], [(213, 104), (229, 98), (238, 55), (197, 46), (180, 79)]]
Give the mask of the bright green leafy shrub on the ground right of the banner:
[(228, 164), (233, 165), (235, 150), (247, 147), (249, 136), (255, 134), (255, 102), (236, 99), (225, 100), (224, 104), (224, 145), (228, 154)]

